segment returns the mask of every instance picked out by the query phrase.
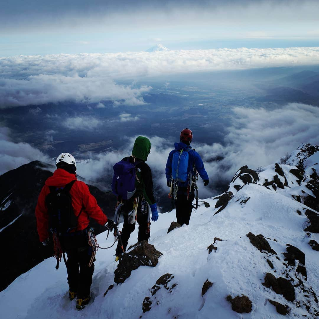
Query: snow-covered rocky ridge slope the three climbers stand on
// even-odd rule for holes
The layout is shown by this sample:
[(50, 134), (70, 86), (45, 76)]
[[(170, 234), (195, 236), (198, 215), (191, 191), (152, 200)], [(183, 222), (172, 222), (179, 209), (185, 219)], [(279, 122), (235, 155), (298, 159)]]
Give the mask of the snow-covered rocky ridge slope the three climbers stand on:
[[(315, 150), (312, 155), (310, 146)], [(275, 304), (278, 311), (288, 311), (287, 318), (314, 318), (319, 315), (319, 252), (309, 241), (319, 241), (314, 208), (319, 147), (310, 146), (300, 146), (302, 162), (293, 152), (286, 164), (265, 167), (260, 173), (242, 167), (226, 193), (199, 201), (189, 226), (167, 234), (175, 211), (161, 214), (151, 225), (150, 243), (163, 254), (157, 266), (140, 266), (105, 297), (114, 284), (117, 263), (113, 249), (99, 250), (93, 302), (83, 311), (76, 311), (75, 301), (68, 299), (65, 267), (56, 272), (55, 260), (49, 258), (0, 293), (3, 317), (279, 318)], [(106, 233), (97, 239), (101, 247), (113, 241), (106, 240)], [(137, 227), (129, 245), (136, 239)], [(167, 273), (171, 280), (152, 295), (156, 281)], [(207, 279), (211, 285), (206, 283), (205, 292)], [(249, 313), (235, 312), (228, 301), (242, 295), (251, 301)], [(143, 313), (145, 297), (150, 309)]]

